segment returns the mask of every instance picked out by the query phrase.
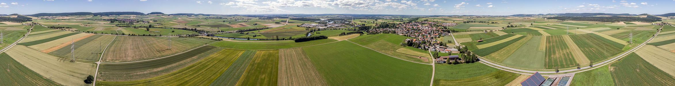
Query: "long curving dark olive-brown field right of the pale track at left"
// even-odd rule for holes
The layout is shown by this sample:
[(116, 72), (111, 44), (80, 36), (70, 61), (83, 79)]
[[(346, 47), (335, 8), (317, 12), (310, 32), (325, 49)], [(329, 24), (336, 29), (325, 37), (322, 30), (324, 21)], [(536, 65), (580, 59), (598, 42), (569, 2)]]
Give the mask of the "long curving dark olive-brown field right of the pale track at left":
[(215, 46), (202, 46), (182, 54), (143, 62), (102, 63), (99, 66), (99, 81), (138, 81), (165, 75), (197, 62), (222, 50)]

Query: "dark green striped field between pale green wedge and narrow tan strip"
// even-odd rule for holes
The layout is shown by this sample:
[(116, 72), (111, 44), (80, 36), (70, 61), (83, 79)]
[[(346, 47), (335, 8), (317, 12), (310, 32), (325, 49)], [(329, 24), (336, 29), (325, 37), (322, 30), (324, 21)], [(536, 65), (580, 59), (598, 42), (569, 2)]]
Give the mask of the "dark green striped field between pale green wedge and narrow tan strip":
[(553, 69), (553, 67), (569, 68), (574, 67), (576, 64), (572, 51), (562, 36), (546, 37), (546, 55), (544, 60), (544, 69)]

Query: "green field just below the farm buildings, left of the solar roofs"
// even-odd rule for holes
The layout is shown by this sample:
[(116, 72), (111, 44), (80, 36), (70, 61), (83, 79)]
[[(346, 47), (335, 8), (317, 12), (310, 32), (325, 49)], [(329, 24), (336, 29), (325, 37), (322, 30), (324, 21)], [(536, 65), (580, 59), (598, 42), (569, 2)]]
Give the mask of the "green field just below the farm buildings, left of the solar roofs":
[[(471, 71), (471, 72), (467, 72)], [(467, 79), (499, 71), (483, 63), (436, 64), (434, 79)]]

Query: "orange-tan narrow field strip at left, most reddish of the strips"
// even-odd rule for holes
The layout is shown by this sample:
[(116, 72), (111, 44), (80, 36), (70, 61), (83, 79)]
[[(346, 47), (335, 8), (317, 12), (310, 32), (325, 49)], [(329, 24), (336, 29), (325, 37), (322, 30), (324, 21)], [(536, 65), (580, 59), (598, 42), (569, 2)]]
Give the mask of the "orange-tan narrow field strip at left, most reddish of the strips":
[(34, 48), (36, 50), (45, 50), (47, 48), (51, 48), (51, 47), (57, 46), (59, 44), (63, 44), (65, 42), (70, 42), (70, 40), (81, 38), (82, 36), (87, 36), (87, 35), (92, 35), (92, 34), (88, 34), (88, 33), (75, 34), (73, 36), (68, 36), (68, 37), (65, 37), (65, 38), (59, 38), (58, 40), (53, 40), (53, 41), (45, 42), (43, 44), (36, 44), (36, 45), (33, 45), (33, 46), (28, 46), (28, 47)]

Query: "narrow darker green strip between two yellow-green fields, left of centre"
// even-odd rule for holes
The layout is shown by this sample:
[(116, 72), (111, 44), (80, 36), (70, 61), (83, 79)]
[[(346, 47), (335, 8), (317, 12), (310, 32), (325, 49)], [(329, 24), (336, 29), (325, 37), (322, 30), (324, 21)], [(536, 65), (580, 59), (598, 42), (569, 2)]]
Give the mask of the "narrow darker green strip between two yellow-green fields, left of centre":
[(213, 83), (211, 83), (211, 86), (236, 85), (240, 77), (242, 77), (242, 75), (244, 74), (244, 71), (246, 71), (246, 67), (248, 67), (249, 63), (251, 62), (253, 56), (256, 54), (257, 51), (229, 50), (229, 52), (236, 52), (237, 56), (232, 56), (232, 58), (236, 58), (236, 60), (234, 60), (232, 64), (229, 64), (229, 67), (225, 69), (225, 72), (223, 72), (217, 79), (215, 79)]

